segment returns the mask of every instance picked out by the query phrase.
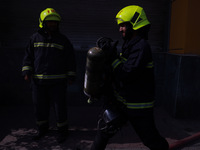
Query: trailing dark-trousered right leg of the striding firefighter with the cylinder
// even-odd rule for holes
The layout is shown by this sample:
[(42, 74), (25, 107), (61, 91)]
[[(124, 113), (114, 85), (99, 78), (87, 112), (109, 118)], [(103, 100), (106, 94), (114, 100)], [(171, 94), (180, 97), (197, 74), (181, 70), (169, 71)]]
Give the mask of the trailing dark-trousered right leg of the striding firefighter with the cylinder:
[(132, 117), (130, 122), (144, 145), (150, 150), (169, 149), (168, 142), (159, 134), (156, 128), (153, 114), (143, 117)]

